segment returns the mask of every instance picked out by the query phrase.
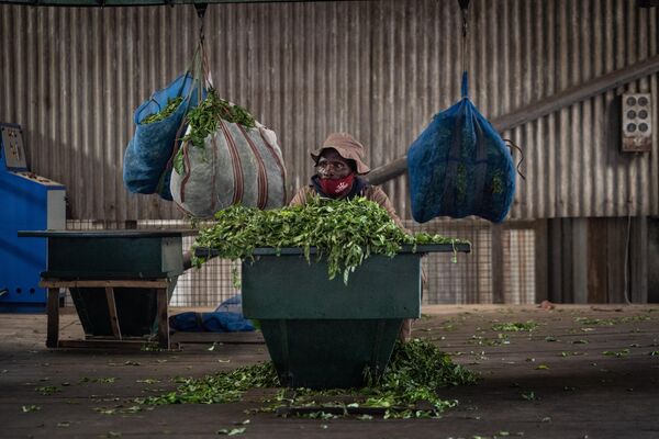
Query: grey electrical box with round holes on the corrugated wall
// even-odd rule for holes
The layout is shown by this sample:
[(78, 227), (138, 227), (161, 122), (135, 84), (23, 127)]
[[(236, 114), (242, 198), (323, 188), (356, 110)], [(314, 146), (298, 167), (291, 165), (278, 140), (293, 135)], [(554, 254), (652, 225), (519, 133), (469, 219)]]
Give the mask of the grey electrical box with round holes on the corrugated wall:
[(623, 94), (623, 153), (649, 153), (652, 148), (650, 93)]

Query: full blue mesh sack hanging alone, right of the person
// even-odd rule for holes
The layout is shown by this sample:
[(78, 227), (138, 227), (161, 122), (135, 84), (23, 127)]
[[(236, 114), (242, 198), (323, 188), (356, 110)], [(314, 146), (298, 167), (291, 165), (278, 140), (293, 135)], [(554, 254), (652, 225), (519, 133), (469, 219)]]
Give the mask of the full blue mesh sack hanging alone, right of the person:
[(412, 215), (418, 223), (437, 216), (476, 215), (499, 223), (515, 194), (515, 167), (506, 144), (468, 98), (440, 113), (407, 151)]

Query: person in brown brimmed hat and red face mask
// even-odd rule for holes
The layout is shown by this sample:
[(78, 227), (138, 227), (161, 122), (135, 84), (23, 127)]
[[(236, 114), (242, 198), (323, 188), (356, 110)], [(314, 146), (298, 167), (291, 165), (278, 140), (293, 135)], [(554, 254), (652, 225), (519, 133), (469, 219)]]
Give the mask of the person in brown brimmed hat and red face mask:
[[(301, 188), (293, 195), (290, 205), (303, 205), (315, 195), (335, 200), (364, 196), (384, 207), (393, 222), (407, 232), (384, 191), (377, 185), (370, 185), (361, 177), (368, 173), (370, 168), (362, 161), (364, 146), (351, 135), (330, 134), (323, 146), (311, 153), (311, 158), (315, 168), (311, 184)], [(412, 320), (405, 319), (399, 340), (410, 340), (411, 333)]]

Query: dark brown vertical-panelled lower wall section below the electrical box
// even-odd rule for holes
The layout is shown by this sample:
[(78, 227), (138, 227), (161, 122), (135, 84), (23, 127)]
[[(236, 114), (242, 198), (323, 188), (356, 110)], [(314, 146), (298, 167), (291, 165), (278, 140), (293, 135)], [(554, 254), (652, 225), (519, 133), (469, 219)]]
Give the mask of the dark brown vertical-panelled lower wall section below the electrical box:
[(648, 303), (652, 259), (648, 218), (548, 219), (547, 241), (536, 264), (547, 291), (536, 299), (557, 303)]

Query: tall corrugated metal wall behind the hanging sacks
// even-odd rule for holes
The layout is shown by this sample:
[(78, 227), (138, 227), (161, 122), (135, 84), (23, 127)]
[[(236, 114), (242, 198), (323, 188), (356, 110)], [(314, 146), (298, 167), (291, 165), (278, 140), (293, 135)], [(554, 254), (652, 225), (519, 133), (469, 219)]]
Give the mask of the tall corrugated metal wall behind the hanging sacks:
[[(659, 54), (659, 8), (636, 1), (472, 1), (471, 98), (490, 119)], [(180, 214), (129, 194), (122, 156), (133, 110), (183, 70), (191, 5), (55, 9), (0, 5), (0, 121), (23, 125), (30, 166), (67, 185), (70, 217)], [(308, 150), (348, 131), (377, 167), (403, 155), (459, 97), (457, 1), (212, 4), (205, 18), (217, 89), (277, 131), (290, 189)], [(650, 91), (659, 133), (659, 76)], [(618, 153), (616, 93), (504, 133), (525, 150), (512, 217), (659, 214), (659, 154)], [(406, 179), (386, 184), (407, 212)], [(409, 215), (407, 215), (409, 216)]]

